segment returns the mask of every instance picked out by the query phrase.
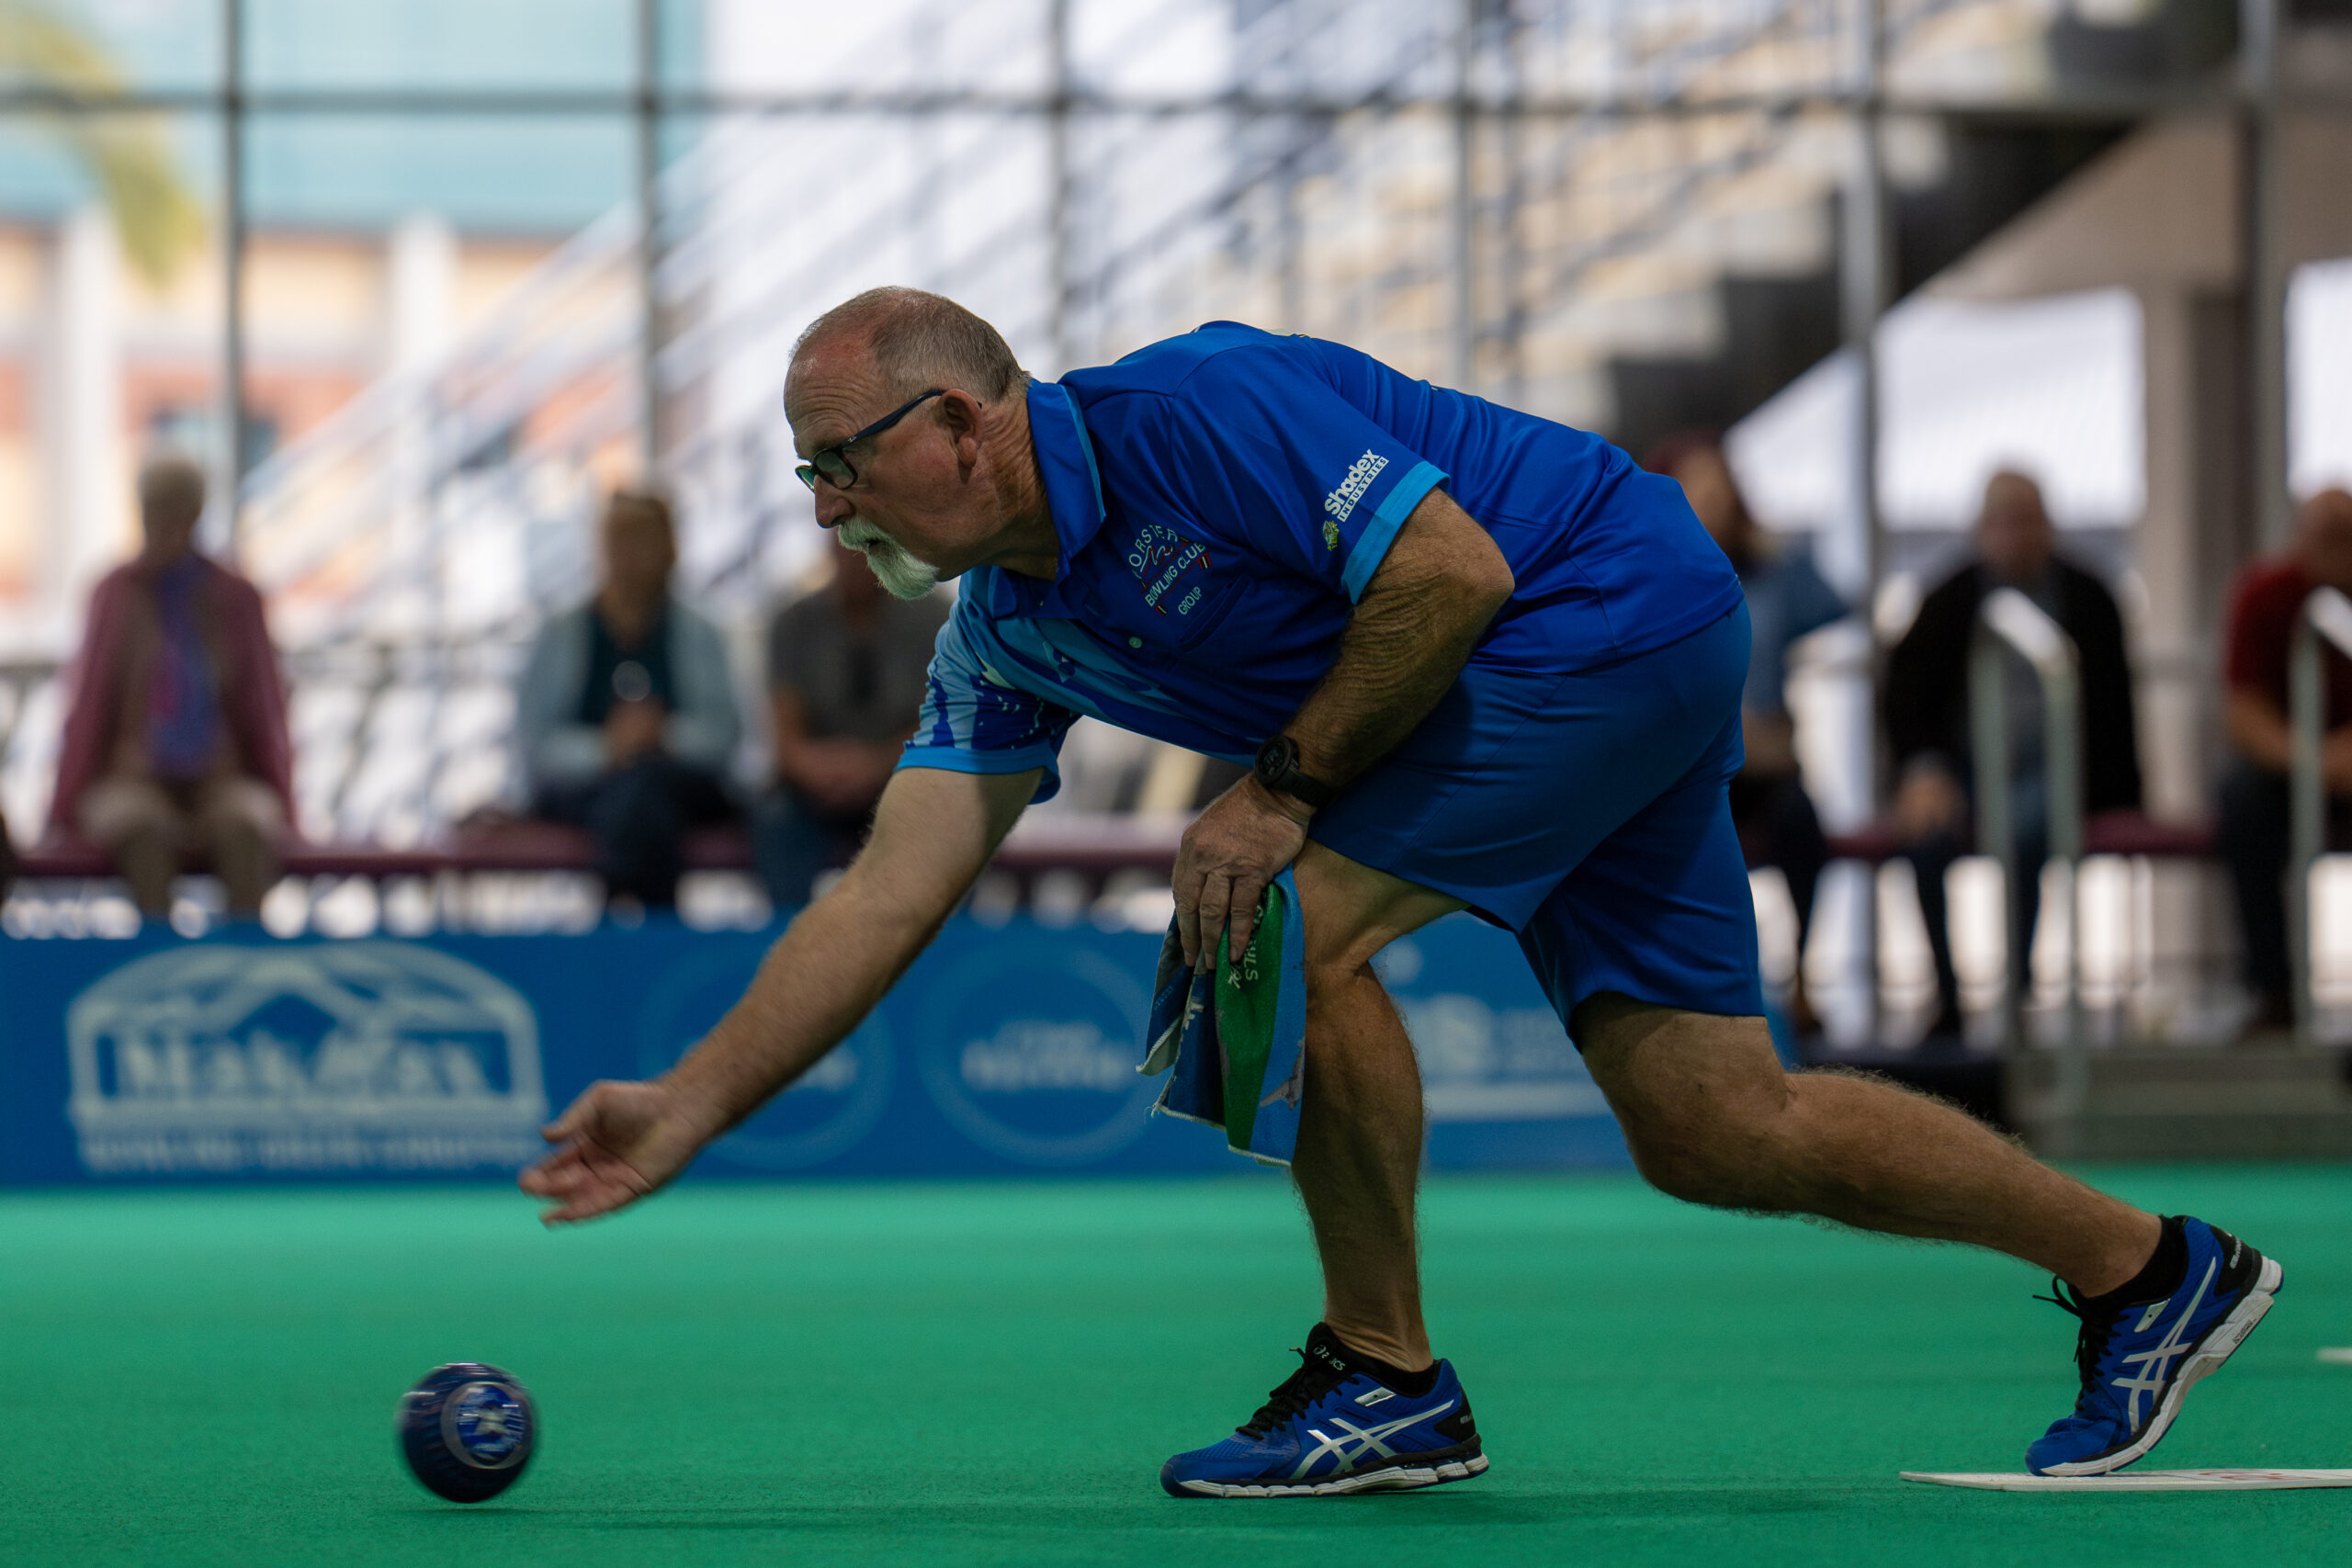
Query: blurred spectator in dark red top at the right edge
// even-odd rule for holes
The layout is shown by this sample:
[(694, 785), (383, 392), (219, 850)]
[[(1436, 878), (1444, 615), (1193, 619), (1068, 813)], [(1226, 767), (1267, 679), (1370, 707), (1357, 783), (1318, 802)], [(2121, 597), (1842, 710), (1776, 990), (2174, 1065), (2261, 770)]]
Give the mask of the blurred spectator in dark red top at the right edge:
[[(2296, 515), (2286, 555), (2253, 562), (2230, 590), (2230, 745), (2237, 757), (2220, 788), (2220, 851), (2237, 884), (2246, 936), (2246, 985), (2256, 994), (2249, 1032), (2296, 1023), (2286, 961), (2286, 853), (2293, 733), (2286, 717), (2286, 663), (2296, 621), (2314, 588), (2352, 592), (2352, 494), (2326, 489)], [(2352, 661), (2326, 646), (2326, 731), (2319, 771), (2328, 792), (2328, 839), (2352, 827)]]

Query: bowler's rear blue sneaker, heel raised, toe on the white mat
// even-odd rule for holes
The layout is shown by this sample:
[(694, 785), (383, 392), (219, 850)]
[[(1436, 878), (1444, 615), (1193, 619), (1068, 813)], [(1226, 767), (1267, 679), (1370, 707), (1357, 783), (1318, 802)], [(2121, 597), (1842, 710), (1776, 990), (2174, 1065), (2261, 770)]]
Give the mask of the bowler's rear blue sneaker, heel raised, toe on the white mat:
[(2286, 1276), (2274, 1258), (2204, 1220), (2183, 1218), (2180, 1229), (2190, 1267), (2161, 1300), (2100, 1309), (2056, 1279), (2058, 1295), (2037, 1298), (2082, 1319), (2082, 1396), (2025, 1450), (2037, 1476), (2103, 1476), (2145, 1455), (2187, 1392), (2218, 1373), (2270, 1312)]

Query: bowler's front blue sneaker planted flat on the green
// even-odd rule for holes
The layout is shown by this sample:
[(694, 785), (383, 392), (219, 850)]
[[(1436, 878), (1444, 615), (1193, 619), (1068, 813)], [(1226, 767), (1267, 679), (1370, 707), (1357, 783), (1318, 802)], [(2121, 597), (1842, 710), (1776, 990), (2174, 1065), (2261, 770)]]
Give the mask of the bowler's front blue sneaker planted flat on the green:
[(1428, 1394), (1399, 1394), (1362, 1371), (1322, 1324), (1303, 1366), (1223, 1443), (1160, 1467), (1171, 1497), (1334, 1497), (1468, 1481), (1486, 1469), (1470, 1399), (1437, 1363)]

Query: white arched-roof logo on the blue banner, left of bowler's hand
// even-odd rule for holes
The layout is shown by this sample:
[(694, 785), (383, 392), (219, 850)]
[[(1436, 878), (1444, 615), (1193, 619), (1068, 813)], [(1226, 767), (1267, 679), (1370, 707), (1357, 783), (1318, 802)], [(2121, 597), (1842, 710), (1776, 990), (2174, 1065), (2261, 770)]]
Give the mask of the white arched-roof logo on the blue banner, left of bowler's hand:
[(539, 1020), (409, 943), (202, 943), (66, 1009), (68, 1117), (94, 1175), (513, 1171), (548, 1114)]

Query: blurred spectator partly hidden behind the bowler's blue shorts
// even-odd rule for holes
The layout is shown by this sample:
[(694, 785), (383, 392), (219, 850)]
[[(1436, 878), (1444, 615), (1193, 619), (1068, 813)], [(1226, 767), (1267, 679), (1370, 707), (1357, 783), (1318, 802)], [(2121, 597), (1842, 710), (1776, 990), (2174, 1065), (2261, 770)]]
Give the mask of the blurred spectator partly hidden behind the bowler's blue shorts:
[(1797, 726), (1788, 712), (1788, 651), (1799, 637), (1846, 618), (1813, 552), (1776, 543), (1748, 512), (1722, 444), (1705, 435), (1658, 442), (1644, 458), (1651, 473), (1672, 475), (1691, 498), (1691, 510), (1731, 557), (1748, 590), (1752, 646), (1748, 686), (1740, 691), (1740, 741), (1748, 759), (1731, 780), (1731, 823), (1740, 832), (1748, 867), (1780, 867), (1797, 905), (1797, 978), (1790, 983), (1790, 1025), (1813, 1034), (1820, 1025), (1804, 994), (1804, 938), (1813, 929), (1813, 889), (1830, 860), (1830, 844), (1804, 792), (1797, 769)]

